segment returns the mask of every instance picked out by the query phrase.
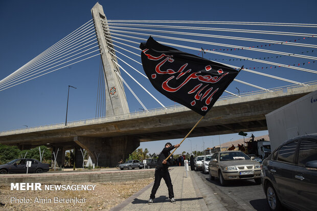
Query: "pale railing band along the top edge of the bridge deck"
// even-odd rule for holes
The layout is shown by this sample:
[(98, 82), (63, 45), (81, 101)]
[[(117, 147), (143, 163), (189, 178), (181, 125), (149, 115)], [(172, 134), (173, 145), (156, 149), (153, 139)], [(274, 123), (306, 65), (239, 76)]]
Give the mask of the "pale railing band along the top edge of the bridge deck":
[[(219, 105), (223, 103), (235, 103), (235, 102), (241, 102), (241, 100), (245, 100), (248, 98), (252, 98), (253, 100), (256, 98), (263, 98), (263, 97), (274, 97), (274, 95), (279, 95), (279, 94), (290, 94), (290, 93), (296, 93), (296, 92), (307, 92), (308, 90), (314, 91), (317, 90), (317, 81), (313, 82), (307, 82), (304, 85), (292, 85), (292, 86), (284, 86), (284, 87), (278, 87), (278, 88), (273, 88), (269, 89), (269, 91), (254, 91), (250, 93), (244, 93), (240, 94), (239, 96), (222, 96), (220, 97), (215, 105)], [(310, 91), (309, 91), (310, 92)], [(189, 109), (184, 107), (184, 105), (177, 104), (177, 105), (171, 105), (169, 107), (165, 108), (156, 108), (156, 109), (151, 109), (147, 111), (137, 111), (137, 112), (131, 112), (129, 114), (123, 114), (123, 115), (115, 115), (115, 116), (109, 116), (109, 117), (99, 117), (99, 118), (91, 118), (91, 119), (85, 119), (85, 120), (78, 120), (78, 121), (71, 121), (67, 122), (66, 127), (71, 127), (71, 126), (78, 126), (78, 125), (86, 125), (86, 124), (97, 124), (97, 123), (104, 123), (104, 122), (109, 122), (109, 121), (114, 121), (114, 120), (122, 120), (122, 119), (129, 119), (129, 118), (139, 118), (139, 117), (146, 117), (148, 115), (154, 116), (154, 115), (160, 115), (162, 113), (173, 113), (174, 111), (176, 112), (182, 112), (182, 111), (188, 111)], [(14, 130), (7, 130), (7, 131), (0, 131), (0, 135), (5, 136), (5, 135), (11, 135), (15, 134), (18, 132), (30, 132), (32, 129), (36, 130), (48, 130), (48, 129), (56, 129), (56, 128), (63, 128), (65, 127), (65, 123), (58, 123), (58, 124), (49, 124), (49, 125), (42, 125), (42, 126), (34, 126), (34, 127), (28, 127), (28, 128), (23, 128), (23, 129), (14, 129)]]

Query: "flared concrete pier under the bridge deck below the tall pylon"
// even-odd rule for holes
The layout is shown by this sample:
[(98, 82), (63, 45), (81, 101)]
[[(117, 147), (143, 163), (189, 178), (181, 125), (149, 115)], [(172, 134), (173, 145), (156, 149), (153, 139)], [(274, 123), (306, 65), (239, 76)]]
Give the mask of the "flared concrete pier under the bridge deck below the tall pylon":
[(76, 144), (88, 151), (92, 161), (98, 166), (115, 167), (122, 159), (125, 161), (129, 154), (140, 146), (140, 140), (134, 137), (121, 136), (111, 138), (74, 137)]

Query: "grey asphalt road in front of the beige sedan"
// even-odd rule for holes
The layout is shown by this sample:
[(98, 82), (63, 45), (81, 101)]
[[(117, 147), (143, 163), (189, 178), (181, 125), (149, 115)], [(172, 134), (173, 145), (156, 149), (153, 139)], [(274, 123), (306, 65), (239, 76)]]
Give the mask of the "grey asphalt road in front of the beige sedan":
[(262, 184), (256, 184), (253, 179), (231, 181), (227, 186), (222, 187), (217, 178), (210, 181), (209, 174), (203, 174), (200, 171), (196, 173), (228, 210), (269, 211)]

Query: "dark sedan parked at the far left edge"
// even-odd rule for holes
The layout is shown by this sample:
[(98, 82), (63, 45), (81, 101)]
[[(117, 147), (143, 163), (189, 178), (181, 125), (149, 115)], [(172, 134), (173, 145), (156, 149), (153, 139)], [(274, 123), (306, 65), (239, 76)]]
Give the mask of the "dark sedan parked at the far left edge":
[(50, 169), (49, 164), (43, 164), (35, 159), (15, 159), (7, 164), (0, 165), (0, 174), (27, 173), (27, 161), (31, 161), (31, 167), (29, 167), (28, 173), (43, 173)]

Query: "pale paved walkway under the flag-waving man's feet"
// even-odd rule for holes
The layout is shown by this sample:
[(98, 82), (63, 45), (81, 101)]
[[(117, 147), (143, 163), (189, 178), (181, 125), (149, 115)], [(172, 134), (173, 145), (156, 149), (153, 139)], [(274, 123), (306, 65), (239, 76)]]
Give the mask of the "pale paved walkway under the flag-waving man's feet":
[(148, 204), (148, 200), (153, 182), (110, 210), (227, 210), (196, 172), (189, 171), (186, 177), (184, 167), (170, 169), (176, 203), (169, 201), (167, 186), (162, 179), (152, 204)]

